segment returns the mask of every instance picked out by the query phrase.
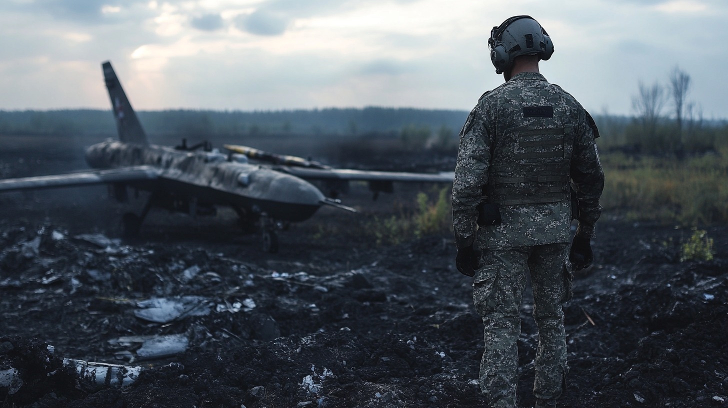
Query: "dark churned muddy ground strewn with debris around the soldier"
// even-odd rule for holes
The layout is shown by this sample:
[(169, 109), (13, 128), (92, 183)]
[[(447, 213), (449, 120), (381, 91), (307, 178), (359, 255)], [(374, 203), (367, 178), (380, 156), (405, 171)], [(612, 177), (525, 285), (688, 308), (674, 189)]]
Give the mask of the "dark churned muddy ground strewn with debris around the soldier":
[[(118, 240), (122, 209), (92, 190), (0, 196), (0, 374), (22, 381), (0, 386), (2, 407), (484, 406), (482, 323), (451, 238), (376, 246), (362, 232), (414, 205), (416, 187), (376, 202), (353, 189), (343, 198), (361, 213), (323, 209), (274, 255), (224, 212), (154, 213), (140, 239)], [(715, 258), (681, 262), (690, 229), (604, 214), (596, 264), (565, 306), (560, 406), (728, 407), (728, 230), (707, 231)], [(143, 301), (185, 296), (197, 303), (162, 322), (139, 317)], [(522, 407), (534, 404), (531, 310), (527, 293)], [(183, 342), (150, 356), (154, 339)], [(63, 358), (142, 371), (99, 386)]]

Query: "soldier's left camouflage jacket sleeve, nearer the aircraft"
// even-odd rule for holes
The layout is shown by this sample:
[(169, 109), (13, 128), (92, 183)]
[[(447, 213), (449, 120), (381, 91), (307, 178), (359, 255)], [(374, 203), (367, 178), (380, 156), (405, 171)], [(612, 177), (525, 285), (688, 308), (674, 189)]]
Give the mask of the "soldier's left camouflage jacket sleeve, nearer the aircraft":
[(455, 167), (452, 193), (452, 215), (455, 244), (472, 246), (478, 229), (478, 204), (483, 186), (488, 184), (490, 163), (488, 130), (479, 106), (468, 115), (460, 131), (460, 145)]

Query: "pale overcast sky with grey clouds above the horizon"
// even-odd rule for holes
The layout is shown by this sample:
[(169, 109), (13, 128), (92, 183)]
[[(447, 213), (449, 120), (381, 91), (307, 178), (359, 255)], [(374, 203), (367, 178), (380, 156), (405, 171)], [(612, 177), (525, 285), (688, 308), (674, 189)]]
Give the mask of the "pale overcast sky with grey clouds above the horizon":
[(555, 46), (542, 74), (592, 113), (632, 114), (679, 67), (728, 117), (725, 0), (2, 0), (0, 109), (110, 109), (111, 60), (136, 109), (470, 110), (503, 81), (491, 28), (523, 14)]

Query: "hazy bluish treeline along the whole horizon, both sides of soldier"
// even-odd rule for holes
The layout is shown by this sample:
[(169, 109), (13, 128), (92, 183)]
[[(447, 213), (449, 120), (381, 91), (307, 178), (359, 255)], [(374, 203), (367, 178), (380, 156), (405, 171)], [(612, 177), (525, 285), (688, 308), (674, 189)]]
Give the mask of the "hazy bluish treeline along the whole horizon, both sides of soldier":
[[(411, 148), (456, 147), (467, 111), (368, 107), (282, 111), (139, 111), (150, 135), (175, 135), (190, 140), (227, 136), (378, 134), (400, 138)], [(595, 115), (599, 146), (628, 154), (702, 154), (728, 149), (725, 121), (688, 117), (674, 119)], [(111, 111), (0, 111), (0, 134), (116, 134)]]

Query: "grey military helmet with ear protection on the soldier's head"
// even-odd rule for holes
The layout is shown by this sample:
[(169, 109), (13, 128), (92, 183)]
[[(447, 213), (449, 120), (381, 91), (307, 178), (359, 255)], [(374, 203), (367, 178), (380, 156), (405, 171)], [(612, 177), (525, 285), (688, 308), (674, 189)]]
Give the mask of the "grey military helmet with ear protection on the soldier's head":
[(548, 60), (553, 54), (553, 43), (546, 30), (529, 15), (510, 17), (494, 27), (488, 47), (496, 74), (509, 70), (513, 59), (519, 55), (538, 55), (542, 60)]

